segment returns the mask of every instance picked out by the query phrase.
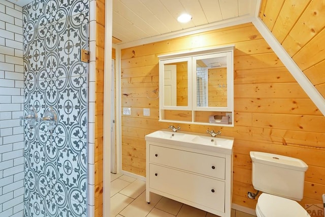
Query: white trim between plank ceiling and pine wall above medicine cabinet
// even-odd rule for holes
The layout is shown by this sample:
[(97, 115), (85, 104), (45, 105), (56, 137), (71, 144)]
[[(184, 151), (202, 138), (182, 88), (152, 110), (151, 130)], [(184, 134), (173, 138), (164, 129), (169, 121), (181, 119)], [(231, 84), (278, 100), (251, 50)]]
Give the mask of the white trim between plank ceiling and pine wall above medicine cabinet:
[(149, 37), (149, 38), (145, 38), (145, 39), (140, 39), (137, 41), (120, 43), (117, 45), (117, 47), (119, 49), (135, 47), (135, 46), (139, 46), (139, 45), (143, 45), (143, 44), (149, 44), (149, 43), (153, 43), (153, 42), (164, 41), (164, 40), (169, 40), (169, 39), (173, 39), (173, 38), (203, 33), (203, 32), (207, 32), (207, 31), (214, 30), (214, 29), (220, 29), (220, 28), (225, 28), (225, 27), (229, 27), (229, 26), (250, 23), (253, 20), (254, 20), (254, 17), (252, 17), (251, 15), (245, 15), (245, 16), (241, 16), (241, 17), (237, 17), (237, 18), (231, 18), (228, 20), (222, 20), (217, 23), (211, 23), (211, 24), (196, 26), (196, 27), (192, 27), (192, 28), (186, 28), (186, 29), (182, 29), (182, 30), (179, 30), (179, 31), (176, 31), (173, 33), (166, 33), (166, 34), (162, 34), (159, 36), (153, 36), (153, 37)]

